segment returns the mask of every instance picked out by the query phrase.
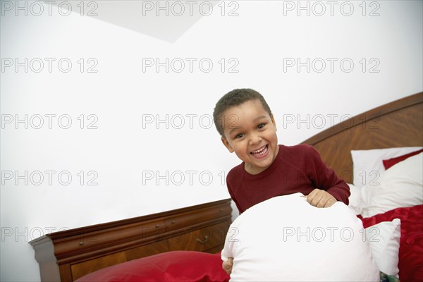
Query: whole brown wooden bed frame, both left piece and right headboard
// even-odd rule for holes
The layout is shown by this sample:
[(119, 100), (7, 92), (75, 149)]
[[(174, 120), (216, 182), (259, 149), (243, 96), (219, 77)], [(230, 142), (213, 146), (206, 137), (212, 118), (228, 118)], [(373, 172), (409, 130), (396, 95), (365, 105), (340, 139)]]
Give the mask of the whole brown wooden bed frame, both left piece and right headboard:
[[(423, 92), (379, 106), (305, 140), (346, 182), (351, 149), (423, 146)], [(98, 269), (172, 250), (219, 252), (231, 199), (50, 233), (32, 240), (42, 281), (74, 281)]]

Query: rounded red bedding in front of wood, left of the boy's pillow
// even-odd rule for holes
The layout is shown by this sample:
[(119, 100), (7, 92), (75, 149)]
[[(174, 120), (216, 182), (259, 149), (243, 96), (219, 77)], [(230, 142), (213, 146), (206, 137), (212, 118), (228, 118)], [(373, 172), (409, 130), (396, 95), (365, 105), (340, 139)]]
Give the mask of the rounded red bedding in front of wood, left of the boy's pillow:
[[(220, 253), (173, 251), (134, 259), (106, 267), (76, 280), (78, 282), (138, 281), (229, 281), (222, 269)], [(75, 281), (75, 282), (76, 282)]]

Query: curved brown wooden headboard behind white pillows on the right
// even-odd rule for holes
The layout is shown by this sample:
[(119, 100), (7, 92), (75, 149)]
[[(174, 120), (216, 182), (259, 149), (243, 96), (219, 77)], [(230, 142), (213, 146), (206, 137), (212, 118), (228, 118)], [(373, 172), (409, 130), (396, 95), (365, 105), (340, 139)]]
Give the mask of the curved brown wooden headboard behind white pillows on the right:
[(423, 92), (349, 118), (305, 140), (347, 183), (353, 183), (350, 150), (423, 146)]

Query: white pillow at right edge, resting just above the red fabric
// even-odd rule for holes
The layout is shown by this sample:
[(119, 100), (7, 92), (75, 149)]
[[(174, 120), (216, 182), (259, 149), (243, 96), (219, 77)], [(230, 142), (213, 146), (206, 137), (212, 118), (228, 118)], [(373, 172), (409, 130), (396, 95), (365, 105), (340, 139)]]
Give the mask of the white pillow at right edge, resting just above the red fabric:
[(363, 217), (423, 204), (423, 153), (389, 168), (378, 184), (362, 188)]

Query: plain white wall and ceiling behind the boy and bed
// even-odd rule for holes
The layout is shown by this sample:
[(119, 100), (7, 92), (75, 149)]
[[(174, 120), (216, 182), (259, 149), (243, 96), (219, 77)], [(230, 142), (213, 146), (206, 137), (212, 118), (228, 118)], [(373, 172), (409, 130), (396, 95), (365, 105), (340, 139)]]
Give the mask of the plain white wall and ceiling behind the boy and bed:
[[(142, 5), (149, 8), (156, 1), (85, 2), (84, 16), (76, 6), (79, 1), (72, 2), (69, 16), (61, 15), (66, 6), (61, 13), (51, 6), (49, 16), (47, 4), (32, 3), (27, 2), (27, 16), (25, 11), (16, 16), (16, 2), (1, 1), (1, 281), (39, 280), (27, 242), (43, 233), (228, 197), (222, 180), (239, 160), (226, 152), (214, 126), (208, 125), (216, 101), (234, 88), (252, 87), (264, 94), (274, 111), (279, 142), (286, 145), (328, 128), (331, 116), (338, 123), (341, 117), (423, 90), (422, 1), (364, 2), (365, 16), (362, 1), (336, 2), (333, 16), (326, 1), (302, 1), (302, 6), (309, 5), (309, 16), (297, 11), (297, 1), (213, 2), (209, 16), (199, 13), (199, 2), (192, 16), (185, 1), (180, 2), (183, 16), (174, 15), (180, 11), (177, 6), (169, 16), (165, 11), (156, 16), (155, 10), (144, 10), (143, 16)], [(39, 6), (44, 13), (35, 16)], [(345, 16), (350, 6), (354, 10)], [(202, 7), (207, 13), (208, 6)], [(98, 16), (86, 16), (92, 8)], [(228, 16), (233, 8), (238, 16)], [(321, 8), (326, 13), (317, 16)], [(371, 11), (379, 16), (369, 16)], [(25, 58), (27, 73), (24, 66), (17, 71), (8, 67)], [(39, 73), (35, 58), (44, 61)], [(45, 58), (56, 59), (51, 73)], [(72, 63), (68, 73), (57, 66), (63, 58)], [(168, 73), (165, 67), (143, 71), (148, 58), (181, 58), (185, 70), (176, 73), (180, 66), (173, 61)], [(192, 72), (185, 58), (197, 59)], [(226, 62), (223, 73), (221, 58)], [(303, 63), (310, 59), (309, 73), (305, 66), (298, 72), (284, 65), (297, 58)], [(333, 72), (327, 58), (338, 60)], [(201, 59), (212, 61), (209, 73), (200, 69)], [(321, 61), (326, 69), (319, 73)], [(347, 72), (349, 61), (354, 67)], [(88, 73), (95, 62), (97, 73)], [(228, 72), (234, 62), (238, 73)], [(372, 66), (379, 72), (370, 72)], [(51, 129), (49, 114), (56, 115)], [(298, 124), (307, 114), (309, 123)], [(16, 117), (25, 115), (28, 128), (16, 125)], [(36, 129), (38, 115), (44, 125)], [(62, 115), (71, 118), (70, 128), (59, 126), (67, 123)], [(166, 115), (168, 128), (166, 123), (146, 123)], [(180, 116), (184, 126), (178, 129)], [(97, 129), (87, 129), (93, 121)], [(51, 185), (45, 171), (54, 171)], [(147, 179), (150, 171), (161, 176), (168, 171), (169, 177)], [(63, 173), (72, 176), (68, 185)], [(177, 185), (181, 175), (185, 181)], [(213, 178), (210, 183), (207, 176)], [(98, 185), (87, 185), (93, 177)]]

